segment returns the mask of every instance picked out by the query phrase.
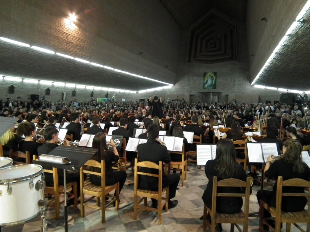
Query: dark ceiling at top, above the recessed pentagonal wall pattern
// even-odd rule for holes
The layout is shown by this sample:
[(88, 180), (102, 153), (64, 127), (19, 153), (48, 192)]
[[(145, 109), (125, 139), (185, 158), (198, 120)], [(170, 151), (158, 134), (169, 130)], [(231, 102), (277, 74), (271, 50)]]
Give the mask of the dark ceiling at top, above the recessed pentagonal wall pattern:
[(239, 22), (246, 21), (247, 0), (160, 0), (181, 28), (186, 28), (212, 8)]

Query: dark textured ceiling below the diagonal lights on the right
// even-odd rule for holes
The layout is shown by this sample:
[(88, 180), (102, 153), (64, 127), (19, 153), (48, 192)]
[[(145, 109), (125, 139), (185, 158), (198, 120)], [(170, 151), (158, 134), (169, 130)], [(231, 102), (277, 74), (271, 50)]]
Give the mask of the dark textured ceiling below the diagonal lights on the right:
[(303, 19), (255, 84), (310, 90), (310, 12)]

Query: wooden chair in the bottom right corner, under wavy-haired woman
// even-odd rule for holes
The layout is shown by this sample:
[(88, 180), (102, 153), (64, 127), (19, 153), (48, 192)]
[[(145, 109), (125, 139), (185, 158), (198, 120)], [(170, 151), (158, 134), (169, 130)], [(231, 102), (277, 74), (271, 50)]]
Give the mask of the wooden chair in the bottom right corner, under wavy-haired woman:
[[(269, 229), (273, 232), (280, 231), (281, 229), (281, 222), (286, 223), (286, 231), (290, 232), (291, 223), (294, 224), (300, 231), (305, 232), (298, 224), (298, 223), (307, 223), (307, 232), (310, 230), (310, 207), (308, 206), (308, 211), (303, 210), (299, 212), (283, 212), (281, 211), (281, 203), (282, 203), (282, 196), (305, 196), (308, 198), (308, 202), (310, 200), (310, 192), (308, 193), (284, 193), (282, 192), (283, 187), (290, 186), (290, 187), (310, 187), (310, 182), (303, 180), (303, 179), (289, 179), (283, 181), (281, 176), (278, 177), (277, 182), (277, 198), (276, 198), (276, 208), (271, 207), (263, 200), (260, 201), (260, 209), (259, 209), (259, 230), (263, 231), (263, 225), (267, 225)], [(264, 218), (264, 208), (271, 213), (272, 218)], [(275, 220), (275, 229), (273, 229), (266, 219), (274, 219)]]

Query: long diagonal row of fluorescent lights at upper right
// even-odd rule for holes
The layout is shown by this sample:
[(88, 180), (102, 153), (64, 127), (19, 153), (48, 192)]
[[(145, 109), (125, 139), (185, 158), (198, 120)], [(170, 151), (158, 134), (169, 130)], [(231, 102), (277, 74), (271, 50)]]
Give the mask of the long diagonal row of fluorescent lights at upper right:
[(288, 38), (288, 35), (290, 35), (294, 31), (294, 29), (298, 26), (299, 20), (307, 13), (307, 11), (309, 10), (309, 7), (310, 7), (310, 0), (308, 0), (306, 2), (306, 4), (303, 6), (302, 10), (299, 12), (299, 14), (296, 17), (296, 20), (291, 24), (290, 28), (286, 31), (285, 35), (282, 37), (281, 41), (279, 42), (277, 47), (274, 49), (273, 53), (268, 58), (267, 62), (263, 65), (263, 67), (261, 68), (259, 73), (254, 78), (252, 84), (254, 84), (255, 81), (259, 78), (259, 76), (263, 73), (263, 70), (265, 69), (265, 67), (268, 66), (269, 62), (275, 56), (275, 53), (278, 52), (278, 50), (281, 48), (281, 46), (283, 46), (283, 44), (285, 43), (286, 39)]

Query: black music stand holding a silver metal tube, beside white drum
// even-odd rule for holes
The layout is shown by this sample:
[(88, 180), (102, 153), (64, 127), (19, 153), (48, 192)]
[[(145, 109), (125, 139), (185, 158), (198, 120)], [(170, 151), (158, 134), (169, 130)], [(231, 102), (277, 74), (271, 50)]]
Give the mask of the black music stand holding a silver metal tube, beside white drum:
[(97, 152), (97, 149), (58, 146), (48, 155), (68, 157), (71, 164), (57, 164), (33, 160), (34, 164), (42, 165), (44, 168), (59, 168), (64, 170), (64, 230), (68, 232), (68, 211), (67, 211), (67, 192), (66, 192), (66, 170), (80, 170), (80, 168)]

